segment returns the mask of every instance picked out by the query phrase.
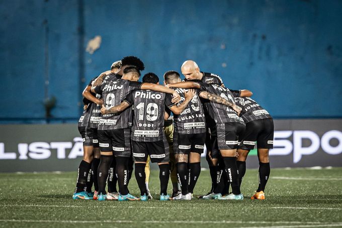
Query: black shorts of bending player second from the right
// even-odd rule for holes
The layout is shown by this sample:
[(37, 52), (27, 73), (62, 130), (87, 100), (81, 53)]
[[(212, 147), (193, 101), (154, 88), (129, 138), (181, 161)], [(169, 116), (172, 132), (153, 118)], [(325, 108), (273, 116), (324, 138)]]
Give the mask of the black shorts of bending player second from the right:
[(236, 149), (239, 136), (244, 133), (245, 125), (229, 122), (217, 124), (216, 127), (218, 149)]

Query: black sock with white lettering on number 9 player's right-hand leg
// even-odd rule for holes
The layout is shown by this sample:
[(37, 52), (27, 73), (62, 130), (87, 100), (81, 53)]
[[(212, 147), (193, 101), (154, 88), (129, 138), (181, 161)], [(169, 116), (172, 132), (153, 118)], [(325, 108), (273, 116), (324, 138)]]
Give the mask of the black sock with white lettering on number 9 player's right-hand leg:
[(116, 159), (116, 174), (118, 175), (119, 192), (121, 195), (128, 194), (128, 160), (127, 157), (115, 157)]

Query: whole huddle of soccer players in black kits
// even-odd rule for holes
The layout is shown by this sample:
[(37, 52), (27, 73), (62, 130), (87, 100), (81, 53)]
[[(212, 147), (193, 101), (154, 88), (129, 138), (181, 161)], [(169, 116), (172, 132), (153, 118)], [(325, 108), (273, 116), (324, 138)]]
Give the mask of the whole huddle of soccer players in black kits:
[[(271, 115), (249, 98), (252, 93), (225, 88), (218, 75), (200, 71), (192, 60), (181, 67), (184, 80), (179, 72), (166, 71), (165, 86), (152, 72), (138, 82), (144, 68), (139, 58), (126, 56), (84, 89), (78, 121), (83, 159), (73, 199), (152, 199), (152, 162), (159, 167), (159, 200), (191, 200), (206, 146), (211, 190), (198, 198), (242, 200), (245, 161), (256, 142), (259, 187), (251, 199), (265, 199), (274, 125)], [(128, 189), (133, 166), (139, 197)]]

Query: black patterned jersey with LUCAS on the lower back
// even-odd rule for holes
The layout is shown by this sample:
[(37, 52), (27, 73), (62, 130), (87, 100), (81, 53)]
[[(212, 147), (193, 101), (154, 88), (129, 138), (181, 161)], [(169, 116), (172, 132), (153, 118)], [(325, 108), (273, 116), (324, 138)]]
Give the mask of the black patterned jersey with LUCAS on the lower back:
[[(181, 101), (178, 105), (185, 101), (184, 92), (187, 90), (180, 88), (172, 88), (180, 96)], [(197, 134), (206, 132), (205, 115), (202, 103), (197, 94), (191, 99), (187, 107), (179, 115), (174, 114), (175, 131), (182, 134)]]

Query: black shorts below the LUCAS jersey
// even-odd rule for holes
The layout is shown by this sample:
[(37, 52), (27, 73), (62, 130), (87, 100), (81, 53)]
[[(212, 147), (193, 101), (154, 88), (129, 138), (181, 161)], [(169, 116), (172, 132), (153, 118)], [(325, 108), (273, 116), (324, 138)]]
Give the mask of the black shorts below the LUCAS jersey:
[(186, 154), (196, 152), (203, 153), (206, 132), (197, 134), (181, 134), (174, 132), (174, 154)]

